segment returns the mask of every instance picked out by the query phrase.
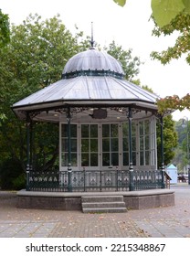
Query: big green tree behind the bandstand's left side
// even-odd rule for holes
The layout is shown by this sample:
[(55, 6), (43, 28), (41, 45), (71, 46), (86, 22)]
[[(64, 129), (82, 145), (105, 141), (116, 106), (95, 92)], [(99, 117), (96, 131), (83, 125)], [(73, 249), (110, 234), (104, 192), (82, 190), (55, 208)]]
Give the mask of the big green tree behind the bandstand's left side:
[[(22, 176), (26, 168), (26, 124), (16, 119), (10, 107), (60, 80), (68, 59), (86, 47), (85, 40), (79, 42), (81, 37), (81, 33), (73, 37), (58, 16), (43, 21), (40, 16), (30, 15), (22, 25), (11, 28), (10, 43), (0, 48), (0, 114), (4, 116), (0, 124), (0, 173), (6, 160), (19, 163), (16, 176)], [(58, 125), (38, 123), (34, 131), (34, 164), (37, 170), (47, 170), (57, 165)], [(15, 172), (14, 165), (7, 167)], [(14, 186), (18, 186), (16, 180)]]

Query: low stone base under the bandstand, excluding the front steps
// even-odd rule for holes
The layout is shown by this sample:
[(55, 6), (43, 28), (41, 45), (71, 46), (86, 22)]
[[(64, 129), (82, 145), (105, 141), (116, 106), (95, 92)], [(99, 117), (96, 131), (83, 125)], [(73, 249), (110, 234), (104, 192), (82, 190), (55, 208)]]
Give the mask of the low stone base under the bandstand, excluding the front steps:
[(174, 190), (153, 189), (127, 192), (17, 192), (17, 208), (41, 208), (57, 210), (82, 210), (81, 197), (123, 196), (128, 209), (159, 208), (174, 206)]

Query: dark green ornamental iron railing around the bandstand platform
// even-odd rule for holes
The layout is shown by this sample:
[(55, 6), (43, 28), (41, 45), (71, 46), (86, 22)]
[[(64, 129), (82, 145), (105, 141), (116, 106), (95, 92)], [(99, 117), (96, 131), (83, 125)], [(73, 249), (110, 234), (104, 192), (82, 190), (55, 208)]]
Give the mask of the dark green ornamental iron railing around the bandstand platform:
[[(162, 171), (133, 171), (134, 190), (162, 188)], [(31, 191), (127, 191), (130, 172), (109, 171), (30, 171), (27, 174), (27, 190)]]

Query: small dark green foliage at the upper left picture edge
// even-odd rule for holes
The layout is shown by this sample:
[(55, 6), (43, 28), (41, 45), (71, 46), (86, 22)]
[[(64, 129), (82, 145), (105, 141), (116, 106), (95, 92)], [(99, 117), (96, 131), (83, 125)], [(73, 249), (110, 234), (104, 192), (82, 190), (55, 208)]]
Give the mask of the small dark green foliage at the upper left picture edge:
[(10, 29), (8, 15), (2, 13), (0, 9), (0, 48), (5, 47), (10, 41)]

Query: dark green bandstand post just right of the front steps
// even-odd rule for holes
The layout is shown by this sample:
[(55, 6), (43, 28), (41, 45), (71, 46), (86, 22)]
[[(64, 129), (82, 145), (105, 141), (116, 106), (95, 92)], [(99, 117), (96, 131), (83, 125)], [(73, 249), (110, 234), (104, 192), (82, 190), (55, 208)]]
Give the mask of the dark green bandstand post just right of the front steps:
[(129, 122), (130, 191), (132, 191), (134, 190), (134, 185), (133, 185), (133, 164), (132, 164), (132, 108), (131, 107), (129, 107), (128, 122)]

